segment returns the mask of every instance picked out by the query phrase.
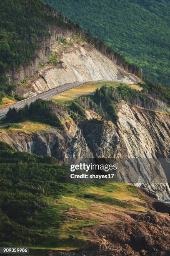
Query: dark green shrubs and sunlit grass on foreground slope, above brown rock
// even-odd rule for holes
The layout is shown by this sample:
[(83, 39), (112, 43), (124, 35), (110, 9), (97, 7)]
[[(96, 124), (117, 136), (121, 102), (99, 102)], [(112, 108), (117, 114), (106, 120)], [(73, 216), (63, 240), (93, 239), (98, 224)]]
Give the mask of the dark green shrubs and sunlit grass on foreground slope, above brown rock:
[(111, 223), (103, 214), (146, 211), (137, 187), (69, 184), (65, 170), (50, 156), (15, 151), (0, 142), (1, 246), (79, 248), (88, 240), (82, 228)]

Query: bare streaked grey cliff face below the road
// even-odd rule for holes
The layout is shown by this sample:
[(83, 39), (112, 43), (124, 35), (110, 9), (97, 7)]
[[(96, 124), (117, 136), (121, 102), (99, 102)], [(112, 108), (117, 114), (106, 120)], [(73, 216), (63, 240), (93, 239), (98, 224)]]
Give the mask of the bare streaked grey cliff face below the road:
[[(54, 103), (55, 104), (55, 103)], [(39, 133), (0, 134), (0, 140), (21, 151), (38, 155), (55, 156), (60, 162), (78, 158), (169, 158), (170, 157), (170, 116), (122, 104), (117, 122), (100, 120), (93, 111), (86, 111), (87, 119), (74, 121), (67, 119), (66, 109), (56, 105), (55, 114), (64, 122), (60, 131), (49, 128)], [(93, 120), (95, 118), (100, 121)], [(160, 178), (164, 177), (159, 165)], [(132, 166), (134, 172), (136, 169)], [(154, 167), (155, 168), (155, 167)], [(154, 177), (157, 168), (151, 169)], [(170, 190), (167, 184), (148, 184), (148, 171), (143, 165), (140, 169), (145, 185), (158, 198), (168, 200)], [(133, 175), (133, 174), (132, 174)], [(128, 174), (121, 170), (122, 180), (129, 182)], [(142, 179), (142, 180), (143, 180)], [(139, 185), (141, 180), (137, 182)], [(142, 182), (143, 183), (143, 182)]]

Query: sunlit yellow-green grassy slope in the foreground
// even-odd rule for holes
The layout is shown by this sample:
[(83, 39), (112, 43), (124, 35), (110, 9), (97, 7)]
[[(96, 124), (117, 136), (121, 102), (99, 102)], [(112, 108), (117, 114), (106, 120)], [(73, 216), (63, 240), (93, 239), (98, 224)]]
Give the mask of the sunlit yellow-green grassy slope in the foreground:
[(129, 184), (117, 182), (104, 185), (84, 184), (70, 185), (70, 188), (72, 193), (67, 194), (63, 191), (57, 199), (55, 196), (47, 198), (50, 207), (41, 213), (42, 226), (36, 230), (45, 234), (46, 238), (36, 248), (62, 250), (80, 248), (89, 239), (83, 236), (82, 228), (114, 223), (107, 217), (103, 219), (103, 214), (147, 210), (142, 194)]

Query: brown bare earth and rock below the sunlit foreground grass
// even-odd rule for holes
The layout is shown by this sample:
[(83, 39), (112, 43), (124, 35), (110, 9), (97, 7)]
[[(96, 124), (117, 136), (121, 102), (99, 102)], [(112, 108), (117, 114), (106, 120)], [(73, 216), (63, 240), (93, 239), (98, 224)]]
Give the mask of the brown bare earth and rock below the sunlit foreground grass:
[[(146, 215), (146, 217), (149, 216)], [(85, 234), (96, 238), (96, 242), (91, 242), (86, 248), (87, 251), (91, 251), (90, 254), (85, 253), (85, 255), (170, 253), (170, 219), (165, 223), (160, 220), (159, 216), (155, 216), (155, 219), (156, 223), (150, 218), (148, 221), (131, 221), (85, 228), (83, 230)], [(160, 226), (160, 224), (162, 225)], [(92, 251), (95, 251), (96, 254)], [(109, 252), (112, 254), (107, 254)]]

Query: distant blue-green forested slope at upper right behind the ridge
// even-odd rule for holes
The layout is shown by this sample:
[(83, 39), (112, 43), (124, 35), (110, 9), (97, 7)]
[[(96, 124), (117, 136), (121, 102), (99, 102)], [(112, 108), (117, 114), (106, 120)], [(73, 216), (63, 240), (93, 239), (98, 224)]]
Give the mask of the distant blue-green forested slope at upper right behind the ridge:
[(169, 0), (43, 0), (170, 87)]

